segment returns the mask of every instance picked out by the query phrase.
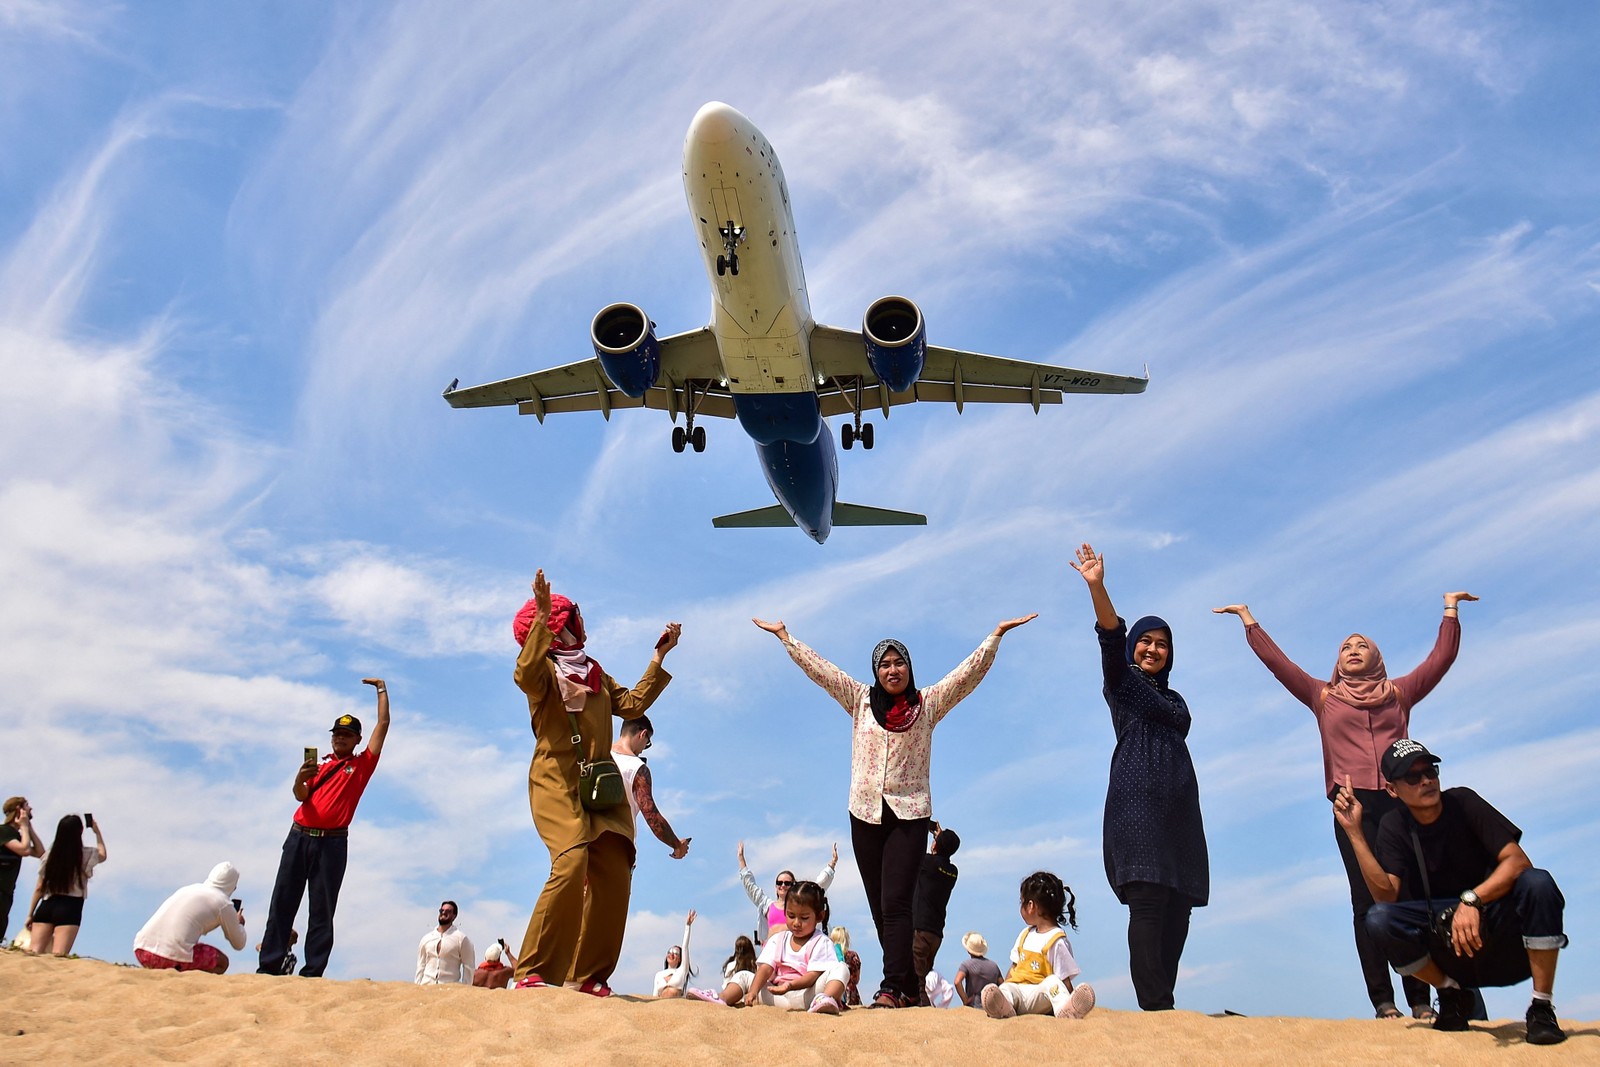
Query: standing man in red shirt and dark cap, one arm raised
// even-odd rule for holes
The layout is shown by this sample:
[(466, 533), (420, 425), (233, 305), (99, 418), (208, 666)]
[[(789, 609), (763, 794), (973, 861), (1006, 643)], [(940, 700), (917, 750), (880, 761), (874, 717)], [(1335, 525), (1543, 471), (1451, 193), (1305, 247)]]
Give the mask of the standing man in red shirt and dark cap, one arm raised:
[(306, 966), (301, 977), (322, 977), (333, 953), (333, 912), (339, 905), (344, 864), (350, 846), (350, 819), (362, 792), (378, 769), (378, 755), (389, 734), (389, 686), (382, 678), (362, 678), (378, 689), (378, 726), (366, 749), (355, 753), (362, 741), (362, 720), (339, 715), (333, 721), (333, 753), (301, 765), (294, 776), (294, 800), (301, 801), (283, 841), (278, 878), (272, 885), (267, 929), (261, 936), (258, 974), (282, 974), (283, 957), (290, 950), (290, 929), (299, 912), (301, 897), (310, 889), (310, 915), (306, 926)]

